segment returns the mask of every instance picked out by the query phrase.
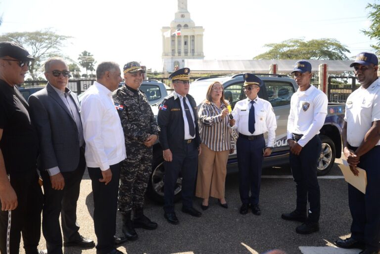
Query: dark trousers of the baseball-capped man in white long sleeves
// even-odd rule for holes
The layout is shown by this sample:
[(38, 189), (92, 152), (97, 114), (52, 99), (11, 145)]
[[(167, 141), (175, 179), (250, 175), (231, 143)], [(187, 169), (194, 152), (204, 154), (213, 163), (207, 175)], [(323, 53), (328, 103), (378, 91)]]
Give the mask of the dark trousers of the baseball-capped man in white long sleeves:
[(291, 173), (296, 183), (297, 206), (299, 212), (306, 212), (310, 203), (308, 221), (318, 222), (321, 213), (321, 192), (317, 178), (317, 163), (321, 154), (322, 143), (315, 135), (301, 150), (299, 155), (290, 152)]

